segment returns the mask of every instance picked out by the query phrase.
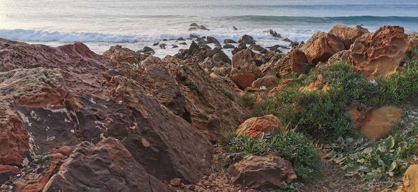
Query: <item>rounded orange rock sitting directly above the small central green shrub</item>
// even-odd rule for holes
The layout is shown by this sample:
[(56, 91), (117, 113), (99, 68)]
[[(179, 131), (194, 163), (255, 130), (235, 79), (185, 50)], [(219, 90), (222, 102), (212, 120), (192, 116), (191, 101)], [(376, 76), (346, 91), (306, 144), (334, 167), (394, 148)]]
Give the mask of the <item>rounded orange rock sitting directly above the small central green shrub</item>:
[(272, 134), (284, 131), (286, 127), (274, 115), (265, 115), (259, 118), (249, 118), (238, 126), (236, 132), (242, 136), (257, 138), (261, 134)]

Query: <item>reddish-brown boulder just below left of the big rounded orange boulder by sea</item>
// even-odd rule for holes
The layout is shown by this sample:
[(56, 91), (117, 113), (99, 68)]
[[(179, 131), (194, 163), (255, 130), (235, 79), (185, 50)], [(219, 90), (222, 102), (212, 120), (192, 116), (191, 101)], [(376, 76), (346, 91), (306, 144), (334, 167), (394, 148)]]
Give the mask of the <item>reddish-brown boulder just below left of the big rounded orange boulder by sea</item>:
[(274, 72), (280, 76), (292, 72), (302, 72), (303, 66), (308, 63), (302, 51), (294, 49), (274, 63)]

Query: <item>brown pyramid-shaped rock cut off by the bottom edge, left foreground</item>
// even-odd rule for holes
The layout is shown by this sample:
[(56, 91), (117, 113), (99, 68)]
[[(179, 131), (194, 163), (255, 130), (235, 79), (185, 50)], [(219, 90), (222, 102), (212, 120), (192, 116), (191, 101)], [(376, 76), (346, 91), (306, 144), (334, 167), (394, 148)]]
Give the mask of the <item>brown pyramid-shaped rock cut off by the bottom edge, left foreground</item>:
[(115, 138), (76, 147), (44, 191), (168, 191)]

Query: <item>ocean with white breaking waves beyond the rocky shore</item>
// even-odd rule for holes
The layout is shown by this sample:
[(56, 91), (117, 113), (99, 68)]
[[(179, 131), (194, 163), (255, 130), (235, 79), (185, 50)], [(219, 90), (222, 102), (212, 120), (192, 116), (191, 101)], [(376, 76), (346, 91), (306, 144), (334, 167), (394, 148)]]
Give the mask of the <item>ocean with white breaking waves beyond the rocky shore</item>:
[[(193, 22), (210, 30), (188, 31)], [(418, 31), (418, 0), (0, 0), (0, 38), (52, 46), (79, 41), (98, 54), (123, 45), (133, 50), (152, 47), (155, 56), (173, 55), (188, 45), (169, 40), (164, 42), (167, 49), (160, 49), (153, 43), (191, 34), (221, 42), (248, 34), (263, 46), (286, 46), (288, 42), (266, 31), (306, 41), (335, 24), (361, 24), (369, 31), (399, 25)]]

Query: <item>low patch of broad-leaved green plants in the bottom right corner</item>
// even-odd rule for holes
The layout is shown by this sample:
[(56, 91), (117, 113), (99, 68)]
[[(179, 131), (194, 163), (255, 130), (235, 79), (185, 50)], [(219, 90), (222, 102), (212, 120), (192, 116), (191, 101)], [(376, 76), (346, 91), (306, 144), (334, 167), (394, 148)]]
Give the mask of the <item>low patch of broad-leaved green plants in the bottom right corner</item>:
[(380, 141), (339, 138), (327, 147), (330, 149), (327, 157), (342, 166), (347, 171), (346, 176), (359, 176), (369, 185), (393, 186), (405, 172), (408, 162), (418, 154), (417, 140), (411, 131)]

